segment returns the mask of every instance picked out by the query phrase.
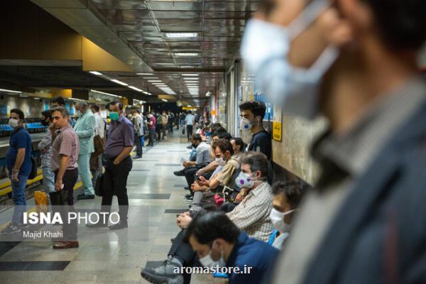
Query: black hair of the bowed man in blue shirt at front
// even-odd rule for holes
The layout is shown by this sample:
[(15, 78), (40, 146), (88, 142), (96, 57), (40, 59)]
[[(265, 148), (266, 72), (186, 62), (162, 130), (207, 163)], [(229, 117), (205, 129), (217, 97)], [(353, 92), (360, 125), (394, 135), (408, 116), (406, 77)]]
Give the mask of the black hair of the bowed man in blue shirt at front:
[(201, 211), (190, 222), (184, 232), (184, 241), (193, 236), (200, 244), (211, 245), (215, 239), (224, 239), (235, 244), (240, 231), (222, 211)]

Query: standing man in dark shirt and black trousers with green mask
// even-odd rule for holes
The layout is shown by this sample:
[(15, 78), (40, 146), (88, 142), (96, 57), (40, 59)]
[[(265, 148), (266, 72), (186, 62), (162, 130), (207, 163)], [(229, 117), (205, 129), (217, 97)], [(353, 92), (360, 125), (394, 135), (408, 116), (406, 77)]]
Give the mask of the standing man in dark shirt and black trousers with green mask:
[[(129, 197), (127, 196), (127, 178), (132, 168), (130, 153), (134, 144), (133, 125), (126, 119), (123, 104), (118, 101), (109, 104), (109, 118), (111, 126), (107, 133), (107, 143), (104, 155), (107, 158), (102, 188), (101, 212), (111, 211), (112, 197), (116, 195), (119, 202), (120, 222), (109, 226), (109, 229), (127, 228), (127, 214), (129, 212)], [(98, 222), (87, 224), (91, 228), (104, 227), (108, 224)]]

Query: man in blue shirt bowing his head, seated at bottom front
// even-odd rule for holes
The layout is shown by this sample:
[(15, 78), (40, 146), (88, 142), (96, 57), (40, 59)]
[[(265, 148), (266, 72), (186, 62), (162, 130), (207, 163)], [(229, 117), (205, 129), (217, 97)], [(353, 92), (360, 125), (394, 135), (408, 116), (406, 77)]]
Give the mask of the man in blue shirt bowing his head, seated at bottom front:
[(229, 284), (261, 283), (278, 257), (277, 249), (249, 238), (223, 212), (200, 212), (185, 230), (185, 241), (204, 267), (234, 268), (227, 271)]

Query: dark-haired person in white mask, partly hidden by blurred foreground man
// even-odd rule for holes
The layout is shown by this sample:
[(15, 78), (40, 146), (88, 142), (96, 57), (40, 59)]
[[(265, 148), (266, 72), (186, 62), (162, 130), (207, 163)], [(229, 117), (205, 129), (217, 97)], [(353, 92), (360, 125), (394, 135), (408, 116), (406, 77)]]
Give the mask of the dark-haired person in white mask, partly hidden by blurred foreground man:
[(271, 211), (271, 222), (279, 231), (279, 236), (273, 242), (276, 249), (281, 249), (285, 239), (289, 236), (290, 226), (309, 186), (302, 182), (275, 182), (272, 186), (273, 209)]

